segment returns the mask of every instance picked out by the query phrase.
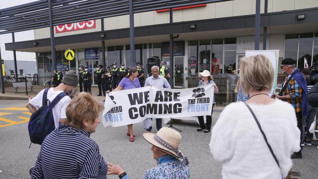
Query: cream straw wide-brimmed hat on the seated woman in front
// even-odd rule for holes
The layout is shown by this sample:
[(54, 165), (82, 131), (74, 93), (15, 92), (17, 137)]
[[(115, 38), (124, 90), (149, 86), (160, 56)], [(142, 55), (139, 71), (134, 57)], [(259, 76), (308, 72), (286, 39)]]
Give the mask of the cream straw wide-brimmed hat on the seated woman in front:
[(152, 145), (158, 147), (159, 149), (175, 156), (178, 158), (183, 158), (183, 163), (187, 165), (188, 159), (185, 157), (183, 152), (179, 149), (180, 141), (182, 136), (177, 131), (162, 127), (158, 133), (144, 133), (142, 136)]

